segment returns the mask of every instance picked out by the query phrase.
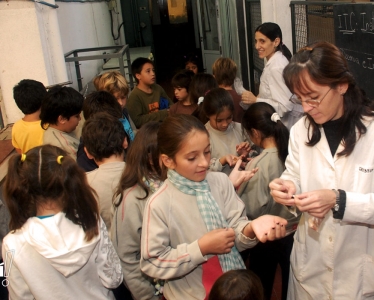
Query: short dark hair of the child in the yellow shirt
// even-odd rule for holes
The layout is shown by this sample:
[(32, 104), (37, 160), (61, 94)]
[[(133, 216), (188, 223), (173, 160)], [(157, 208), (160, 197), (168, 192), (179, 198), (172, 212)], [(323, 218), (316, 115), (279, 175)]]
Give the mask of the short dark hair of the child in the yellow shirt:
[(25, 115), (38, 111), (46, 95), (43, 83), (32, 79), (23, 79), (13, 87), (14, 101)]

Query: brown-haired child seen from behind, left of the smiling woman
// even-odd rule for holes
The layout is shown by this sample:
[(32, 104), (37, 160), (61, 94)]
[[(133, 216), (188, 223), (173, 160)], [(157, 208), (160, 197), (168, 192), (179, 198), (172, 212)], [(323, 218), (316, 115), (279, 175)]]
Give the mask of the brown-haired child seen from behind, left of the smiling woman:
[(232, 97), (232, 101), (234, 101), (233, 121), (241, 123), (244, 114), (244, 109), (240, 106), (242, 97), (232, 88), (237, 69), (236, 63), (228, 57), (218, 58), (212, 67), (213, 76), (217, 80), (218, 86), (227, 90)]

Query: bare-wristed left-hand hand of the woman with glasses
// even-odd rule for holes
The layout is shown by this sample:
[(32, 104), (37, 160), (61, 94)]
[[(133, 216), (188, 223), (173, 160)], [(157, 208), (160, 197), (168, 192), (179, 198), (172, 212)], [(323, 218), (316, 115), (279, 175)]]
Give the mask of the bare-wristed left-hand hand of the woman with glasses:
[(273, 196), (276, 202), (287, 206), (295, 205), (294, 195), (296, 187), (291, 180), (276, 178), (270, 182), (269, 188), (270, 195)]

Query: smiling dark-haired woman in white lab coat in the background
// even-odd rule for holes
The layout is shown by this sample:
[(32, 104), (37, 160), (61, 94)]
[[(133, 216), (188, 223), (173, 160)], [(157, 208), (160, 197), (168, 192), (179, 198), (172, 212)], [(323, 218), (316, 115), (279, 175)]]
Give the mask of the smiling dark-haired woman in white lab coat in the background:
[(292, 93), (284, 83), (283, 70), (292, 54), (283, 44), (279, 25), (267, 22), (258, 26), (255, 47), (258, 57), (265, 60), (265, 67), (260, 78), (259, 94), (255, 96), (250, 91), (242, 93), (243, 108), (255, 102), (266, 102), (274, 107), (282, 123), (290, 130), (303, 116), (303, 109), (300, 104), (289, 101)]

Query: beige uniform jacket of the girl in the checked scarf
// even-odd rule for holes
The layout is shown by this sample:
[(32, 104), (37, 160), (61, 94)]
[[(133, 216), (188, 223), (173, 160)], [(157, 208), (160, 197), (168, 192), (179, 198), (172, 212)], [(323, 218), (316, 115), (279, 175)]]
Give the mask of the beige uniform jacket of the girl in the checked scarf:
[[(241, 251), (255, 246), (256, 239), (242, 234), (249, 221), (245, 206), (227, 176), (209, 172), (206, 180), (228, 227), (236, 233), (236, 248)], [(140, 266), (149, 276), (166, 280), (166, 299), (201, 300), (206, 297), (203, 282), (209, 280), (216, 265), (206, 269), (205, 263), (217, 257), (201, 254), (198, 240), (206, 233), (197, 197), (181, 192), (170, 179), (148, 200), (143, 218)]]

